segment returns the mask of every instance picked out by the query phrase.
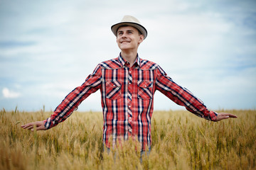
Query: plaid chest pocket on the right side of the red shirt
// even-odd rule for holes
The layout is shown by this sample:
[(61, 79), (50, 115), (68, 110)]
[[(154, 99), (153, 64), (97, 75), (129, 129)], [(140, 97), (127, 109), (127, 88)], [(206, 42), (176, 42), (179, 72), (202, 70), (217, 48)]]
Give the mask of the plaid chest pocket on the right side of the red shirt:
[(153, 81), (138, 81), (138, 98), (149, 100), (153, 97)]

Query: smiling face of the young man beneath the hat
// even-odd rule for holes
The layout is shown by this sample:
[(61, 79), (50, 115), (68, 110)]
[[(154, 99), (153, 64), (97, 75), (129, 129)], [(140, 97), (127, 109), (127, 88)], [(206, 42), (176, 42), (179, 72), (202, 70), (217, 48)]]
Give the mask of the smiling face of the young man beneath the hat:
[(143, 40), (144, 36), (132, 26), (120, 27), (117, 30), (117, 45), (120, 50), (137, 50)]

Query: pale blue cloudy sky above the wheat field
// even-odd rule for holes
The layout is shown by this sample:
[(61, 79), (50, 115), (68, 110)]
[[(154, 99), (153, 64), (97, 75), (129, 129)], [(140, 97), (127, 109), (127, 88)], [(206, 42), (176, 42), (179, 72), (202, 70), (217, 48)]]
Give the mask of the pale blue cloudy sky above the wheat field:
[[(124, 15), (148, 36), (139, 57), (211, 110), (256, 108), (256, 1), (0, 0), (0, 109), (54, 111), (98, 63), (119, 55)], [(178, 110), (159, 91), (154, 110)], [(78, 111), (101, 111), (100, 91)]]

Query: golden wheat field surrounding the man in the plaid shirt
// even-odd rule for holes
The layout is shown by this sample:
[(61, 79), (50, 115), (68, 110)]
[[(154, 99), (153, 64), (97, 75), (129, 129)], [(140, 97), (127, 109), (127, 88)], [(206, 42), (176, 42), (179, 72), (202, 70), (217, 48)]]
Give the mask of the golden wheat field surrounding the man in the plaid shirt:
[[(221, 111), (223, 112), (223, 111)], [(188, 111), (154, 111), (152, 145), (140, 157), (132, 140), (104, 152), (102, 113), (76, 111), (46, 131), (21, 125), (50, 112), (0, 111), (0, 169), (256, 169), (256, 111), (210, 122)]]

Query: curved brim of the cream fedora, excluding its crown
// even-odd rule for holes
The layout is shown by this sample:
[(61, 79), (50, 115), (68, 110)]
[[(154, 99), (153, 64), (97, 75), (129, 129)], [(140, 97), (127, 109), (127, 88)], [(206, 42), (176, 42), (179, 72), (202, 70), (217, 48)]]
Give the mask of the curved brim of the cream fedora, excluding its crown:
[(137, 28), (142, 33), (142, 35), (144, 35), (144, 39), (146, 38), (146, 35), (147, 35), (146, 28), (144, 28), (144, 26), (142, 26), (138, 23), (132, 23), (132, 22), (121, 22), (121, 23), (114, 24), (111, 27), (111, 30), (116, 37), (117, 37), (117, 30), (121, 26), (132, 26), (134, 28)]

